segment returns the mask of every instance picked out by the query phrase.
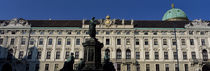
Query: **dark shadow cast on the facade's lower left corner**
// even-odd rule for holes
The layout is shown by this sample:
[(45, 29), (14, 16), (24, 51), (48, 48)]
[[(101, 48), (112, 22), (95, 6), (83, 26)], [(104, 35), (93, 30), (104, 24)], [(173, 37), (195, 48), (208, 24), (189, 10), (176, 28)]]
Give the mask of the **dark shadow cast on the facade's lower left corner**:
[[(28, 49), (27, 55), (23, 52), (16, 52), (13, 48), (0, 46), (0, 71), (38, 71), (40, 62), (34, 57), (37, 53), (36, 47)], [(18, 57), (14, 56), (18, 54)]]

